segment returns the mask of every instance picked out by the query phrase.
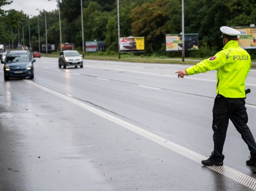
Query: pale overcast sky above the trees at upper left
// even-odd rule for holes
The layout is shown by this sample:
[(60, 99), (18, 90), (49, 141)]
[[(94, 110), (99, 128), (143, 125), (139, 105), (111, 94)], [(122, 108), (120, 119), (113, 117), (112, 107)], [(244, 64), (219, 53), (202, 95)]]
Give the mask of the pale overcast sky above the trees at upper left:
[(52, 11), (57, 9), (56, 0), (13, 0), (13, 3), (2, 7), (4, 10), (15, 9), (17, 11), (23, 11), (27, 15), (39, 15), (39, 11), (36, 9), (45, 9), (46, 11)]

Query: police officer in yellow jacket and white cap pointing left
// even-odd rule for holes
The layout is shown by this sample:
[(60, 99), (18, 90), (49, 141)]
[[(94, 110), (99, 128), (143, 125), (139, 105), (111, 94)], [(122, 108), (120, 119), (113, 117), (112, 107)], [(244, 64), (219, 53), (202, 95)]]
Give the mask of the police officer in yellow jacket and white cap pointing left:
[(217, 69), (217, 96), (213, 105), (213, 143), (210, 158), (202, 160), (205, 166), (222, 166), (222, 153), (230, 119), (250, 150), (247, 165), (256, 164), (256, 143), (247, 126), (248, 116), (245, 107), (245, 79), (250, 71), (250, 55), (239, 47), (237, 35), (240, 31), (222, 26), (223, 50), (185, 70), (176, 71), (178, 78)]

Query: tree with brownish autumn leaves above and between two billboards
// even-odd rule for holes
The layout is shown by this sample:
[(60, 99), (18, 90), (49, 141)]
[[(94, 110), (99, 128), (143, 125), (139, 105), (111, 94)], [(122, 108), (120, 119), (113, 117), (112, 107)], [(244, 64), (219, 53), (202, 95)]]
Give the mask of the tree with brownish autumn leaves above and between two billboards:
[(178, 0), (156, 0), (132, 10), (132, 35), (145, 36), (146, 51), (159, 51), (166, 33), (180, 33), (181, 4)]

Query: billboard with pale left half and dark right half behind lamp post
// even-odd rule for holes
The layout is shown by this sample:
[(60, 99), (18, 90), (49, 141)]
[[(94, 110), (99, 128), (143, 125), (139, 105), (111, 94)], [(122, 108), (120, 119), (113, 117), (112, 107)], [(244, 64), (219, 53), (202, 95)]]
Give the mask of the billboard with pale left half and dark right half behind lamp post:
[[(185, 51), (198, 50), (198, 34), (185, 34)], [(182, 35), (165, 35), (166, 51), (182, 50)]]

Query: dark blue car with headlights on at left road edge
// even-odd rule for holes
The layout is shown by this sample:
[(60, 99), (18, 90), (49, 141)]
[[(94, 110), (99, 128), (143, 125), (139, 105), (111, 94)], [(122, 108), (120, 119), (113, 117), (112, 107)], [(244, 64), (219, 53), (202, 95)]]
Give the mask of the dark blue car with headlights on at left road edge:
[(4, 62), (4, 80), (10, 78), (34, 78), (32, 56), (29, 51), (9, 51)]

